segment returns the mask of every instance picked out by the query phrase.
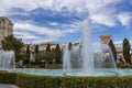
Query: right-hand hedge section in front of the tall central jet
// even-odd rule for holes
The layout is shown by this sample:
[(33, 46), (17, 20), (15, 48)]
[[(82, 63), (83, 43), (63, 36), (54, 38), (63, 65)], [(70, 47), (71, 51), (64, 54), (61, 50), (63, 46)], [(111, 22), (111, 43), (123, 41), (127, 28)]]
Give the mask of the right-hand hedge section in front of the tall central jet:
[(66, 77), (63, 88), (132, 88), (132, 77)]

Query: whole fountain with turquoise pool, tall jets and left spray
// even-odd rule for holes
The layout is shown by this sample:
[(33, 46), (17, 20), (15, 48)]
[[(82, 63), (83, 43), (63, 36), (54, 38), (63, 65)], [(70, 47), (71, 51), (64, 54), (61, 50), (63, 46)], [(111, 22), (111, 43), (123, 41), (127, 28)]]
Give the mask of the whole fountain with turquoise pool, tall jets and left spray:
[[(79, 46), (64, 50), (64, 69), (44, 68), (15, 68), (10, 73), (26, 73), (42, 76), (131, 76), (132, 69), (118, 69), (109, 45), (100, 45), (92, 48), (90, 42), (90, 29), (87, 21), (84, 21), (84, 40)], [(3, 56), (3, 57), (2, 57)], [(7, 57), (6, 57), (7, 56)], [(13, 52), (4, 55), (0, 53), (0, 68), (15, 67)], [(2, 58), (1, 58), (2, 57)], [(12, 57), (12, 58), (11, 58)], [(6, 58), (6, 59), (4, 59)], [(8, 65), (4, 67), (2, 62)], [(13, 64), (11, 64), (11, 62)]]

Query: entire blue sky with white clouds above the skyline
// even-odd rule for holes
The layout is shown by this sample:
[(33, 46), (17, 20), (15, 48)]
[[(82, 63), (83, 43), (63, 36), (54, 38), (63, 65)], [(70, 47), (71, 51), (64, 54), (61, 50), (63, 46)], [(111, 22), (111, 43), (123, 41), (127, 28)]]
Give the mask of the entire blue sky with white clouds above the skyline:
[(132, 0), (0, 0), (0, 16), (13, 22), (24, 43), (81, 41), (85, 19), (95, 45), (107, 34), (117, 46), (124, 37), (132, 43)]

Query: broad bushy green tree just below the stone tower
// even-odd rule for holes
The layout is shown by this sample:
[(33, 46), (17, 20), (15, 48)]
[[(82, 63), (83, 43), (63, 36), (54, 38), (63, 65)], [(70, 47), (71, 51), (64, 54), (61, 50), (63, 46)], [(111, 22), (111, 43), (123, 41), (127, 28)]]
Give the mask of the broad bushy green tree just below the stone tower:
[(1, 45), (4, 51), (14, 51), (15, 62), (19, 62), (22, 58), (21, 53), (22, 53), (23, 43), (13, 35), (6, 36), (1, 41)]

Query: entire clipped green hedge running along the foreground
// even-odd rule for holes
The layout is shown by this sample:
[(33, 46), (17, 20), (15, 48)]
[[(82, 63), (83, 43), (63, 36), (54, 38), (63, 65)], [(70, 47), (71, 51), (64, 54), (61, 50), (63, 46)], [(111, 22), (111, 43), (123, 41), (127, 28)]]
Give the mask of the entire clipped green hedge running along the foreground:
[(0, 72), (0, 82), (20, 88), (132, 88), (132, 76), (54, 77)]

